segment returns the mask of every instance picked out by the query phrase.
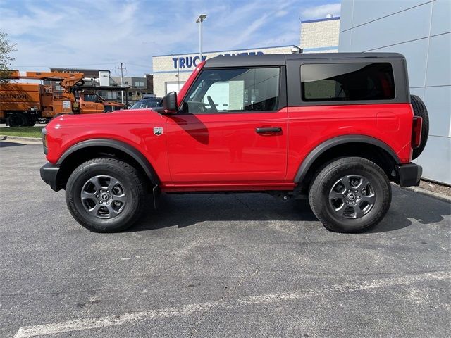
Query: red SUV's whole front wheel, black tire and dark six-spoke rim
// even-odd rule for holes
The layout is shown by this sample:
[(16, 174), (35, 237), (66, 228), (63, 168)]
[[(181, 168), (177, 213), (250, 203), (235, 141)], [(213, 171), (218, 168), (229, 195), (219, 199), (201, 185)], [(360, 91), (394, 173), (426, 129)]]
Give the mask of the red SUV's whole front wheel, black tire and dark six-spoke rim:
[(70, 213), (93, 232), (117, 232), (131, 227), (140, 218), (146, 202), (142, 175), (114, 158), (94, 158), (82, 163), (66, 185)]

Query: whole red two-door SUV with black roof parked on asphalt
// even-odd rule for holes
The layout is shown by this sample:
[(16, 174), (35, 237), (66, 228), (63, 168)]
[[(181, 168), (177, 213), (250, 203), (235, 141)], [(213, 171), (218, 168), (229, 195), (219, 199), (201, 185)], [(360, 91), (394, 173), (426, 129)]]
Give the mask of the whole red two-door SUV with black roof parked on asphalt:
[(160, 192), (268, 192), (359, 232), (387, 213), (390, 181), (419, 184), (428, 115), (401, 54), (218, 56), (162, 106), (43, 132), (42, 179), (92, 231), (130, 227)]

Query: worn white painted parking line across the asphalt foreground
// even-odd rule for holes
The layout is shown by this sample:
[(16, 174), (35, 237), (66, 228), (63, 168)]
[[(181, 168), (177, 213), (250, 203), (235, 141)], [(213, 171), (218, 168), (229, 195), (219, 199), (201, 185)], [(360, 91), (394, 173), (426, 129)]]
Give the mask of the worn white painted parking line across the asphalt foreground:
[(451, 278), (450, 271), (440, 271), (436, 273), (421, 273), (415, 275), (406, 275), (402, 277), (384, 278), (370, 282), (354, 282), (335, 284), (326, 287), (314, 289), (298, 290), (295, 292), (282, 292), (274, 294), (262, 294), (259, 296), (250, 296), (243, 299), (230, 299), (230, 301), (214, 301), (207, 303), (187, 304), (172, 308), (163, 308), (161, 310), (142, 311), (137, 313), (125, 313), (123, 315), (109, 315), (101, 318), (69, 320), (66, 322), (42, 324), (35, 326), (20, 327), (15, 338), (36, 337), (46, 334), (57, 334), (70, 331), (89, 330), (99, 327), (109, 327), (114, 325), (125, 325), (136, 323), (140, 320), (150, 320), (154, 318), (170, 318), (181, 315), (193, 315), (208, 311), (210, 308), (236, 308), (248, 305), (261, 305), (267, 303), (276, 303), (280, 301), (293, 301), (325, 294), (342, 292), (359, 292), (369, 289), (378, 289), (381, 287), (391, 287), (402, 284), (412, 284), (426, 280), (444, 280)]

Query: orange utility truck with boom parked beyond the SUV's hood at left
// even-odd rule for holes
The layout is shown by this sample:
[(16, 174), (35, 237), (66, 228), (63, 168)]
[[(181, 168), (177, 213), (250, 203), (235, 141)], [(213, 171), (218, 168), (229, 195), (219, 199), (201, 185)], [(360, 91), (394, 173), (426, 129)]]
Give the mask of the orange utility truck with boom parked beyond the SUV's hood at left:
[(93, 92), (75, 90), (83, 73), (45, 73), (12, 71), (10, 79), (61, 81), (64, 91), (53, 92), (38, 83), (0, 84), (0, 123), (10, 127), (35, 125), (61, 113), (103, 113), (123, 108), (123, 104), (104, 101)]

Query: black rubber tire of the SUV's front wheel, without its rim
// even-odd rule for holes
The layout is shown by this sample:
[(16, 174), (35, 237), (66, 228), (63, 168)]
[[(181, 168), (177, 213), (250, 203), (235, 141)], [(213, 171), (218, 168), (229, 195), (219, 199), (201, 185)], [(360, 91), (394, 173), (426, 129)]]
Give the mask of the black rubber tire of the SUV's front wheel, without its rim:
[[(91, 177), (109, 175), (123, 186), (125, 205), (114, 218), (102, 219), (90, 214), (81, 199), (82, 189)], [(144, 177), (132, 165), (115, 158), (94, 158), (76, 168), (66, 184), (66, 203), (73, 218), (92, 232), (119, 232), (131, 227), (147, 206)], [(106, 202), (105, 202), (106, 203)]]

